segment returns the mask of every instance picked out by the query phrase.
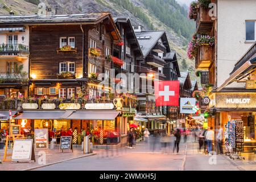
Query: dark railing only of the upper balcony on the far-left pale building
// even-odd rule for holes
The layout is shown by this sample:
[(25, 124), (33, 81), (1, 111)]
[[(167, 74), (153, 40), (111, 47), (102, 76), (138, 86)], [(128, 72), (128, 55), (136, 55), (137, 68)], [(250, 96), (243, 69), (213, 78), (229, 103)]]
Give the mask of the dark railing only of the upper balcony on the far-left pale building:
[(0, 55), (20, 56), (23, 53), (30, 53), (28, 46), (24, 46), (23, 44), (0, 44)]

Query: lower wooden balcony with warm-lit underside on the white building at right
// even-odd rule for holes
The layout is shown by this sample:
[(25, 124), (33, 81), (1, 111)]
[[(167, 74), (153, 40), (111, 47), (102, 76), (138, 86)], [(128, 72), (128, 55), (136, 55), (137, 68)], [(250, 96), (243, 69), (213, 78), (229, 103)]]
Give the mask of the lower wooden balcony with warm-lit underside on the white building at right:
[(196, 69), (209, 69), (214, 61), (214, 47), (202, 45), (196, 55)]

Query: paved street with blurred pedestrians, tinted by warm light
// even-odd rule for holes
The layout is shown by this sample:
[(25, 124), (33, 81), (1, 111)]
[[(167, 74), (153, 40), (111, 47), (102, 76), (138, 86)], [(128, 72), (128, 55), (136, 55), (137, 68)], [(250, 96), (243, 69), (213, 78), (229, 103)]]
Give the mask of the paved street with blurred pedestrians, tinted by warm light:
[[(156, 140), (155, 140), (156, 139)], [(154, 146), (155, 143), (155, 146)], [(121, 150), (94, 150), (97, 155), (69, 160), (67, 162), (38, 168), (36, 170), (243, 170), (226, 156), (207, 156), (199, 154), (197, 144), (188, 140), (181, 141), (180, 154), (172, 152), (173, 142), (170, 146), (161, 147), (159, 138), (150, 137), (148, 143), (141, 142), (133, 149), (123, 147)], [(187, 150), (186, 150), (187, 147)], [(154, 148), (154, 151), (153, 151)], [(209, 159), (210, 163), (209, 164)], [(216, 159), (216, 163), (215, 163)], [(255, 162), (251, 164), (255, 167)], [(255, 170), (255, 168), (247, 168)]]

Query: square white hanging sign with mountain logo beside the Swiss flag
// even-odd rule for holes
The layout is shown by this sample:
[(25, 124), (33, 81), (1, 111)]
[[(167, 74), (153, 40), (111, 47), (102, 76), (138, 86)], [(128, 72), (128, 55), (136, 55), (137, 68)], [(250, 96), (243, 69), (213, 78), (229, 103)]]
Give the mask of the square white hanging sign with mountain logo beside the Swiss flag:
[(180, 113), (195, 114), (196, 98), (180, 98)]

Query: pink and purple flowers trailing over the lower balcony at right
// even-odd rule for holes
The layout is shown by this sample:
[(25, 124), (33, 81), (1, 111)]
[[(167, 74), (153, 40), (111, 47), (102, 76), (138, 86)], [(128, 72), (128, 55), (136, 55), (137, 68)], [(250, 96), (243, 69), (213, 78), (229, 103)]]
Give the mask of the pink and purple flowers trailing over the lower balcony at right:
[(193, 39), (188, 44), (188, 50), (187, 55), (189, 59), (195, 59), (195, 56), (197, 54), (197, 50), (200, 46), (214, 46), (214, 37), (209, 35), (201, 35), (200, 38), (198, 38), (196, 35), (193, 36)]

